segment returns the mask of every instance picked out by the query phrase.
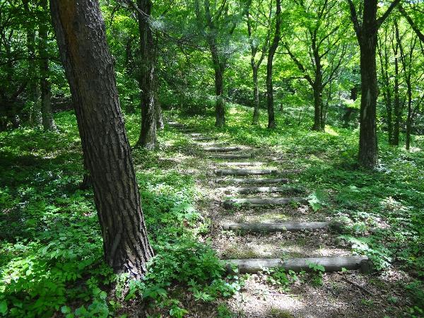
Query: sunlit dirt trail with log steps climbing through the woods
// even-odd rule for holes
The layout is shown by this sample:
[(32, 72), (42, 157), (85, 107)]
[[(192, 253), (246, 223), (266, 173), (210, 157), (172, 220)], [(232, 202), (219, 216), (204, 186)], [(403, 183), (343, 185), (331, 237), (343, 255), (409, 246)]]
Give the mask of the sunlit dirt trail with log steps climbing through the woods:
[(169, 124), (207, 161), (206, 179), (198, 181), (213, 248), (228, 269), (232, 264), (230, 273), (249, 273), (225, 303), (237, 317), (386, 315), (387, 300), (370, 283), (370, 261), (338, 240), (338, 223), (312, 211), (290, 158)]

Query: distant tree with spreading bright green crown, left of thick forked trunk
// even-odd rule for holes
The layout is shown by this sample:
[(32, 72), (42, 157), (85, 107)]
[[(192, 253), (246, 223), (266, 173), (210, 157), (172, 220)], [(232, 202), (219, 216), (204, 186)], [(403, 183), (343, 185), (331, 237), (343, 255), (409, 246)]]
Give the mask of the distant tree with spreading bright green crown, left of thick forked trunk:
[[(346, 23), (339, 17), (341, 8), (338, 1), (298, 1), (293, 0), (293, 20), (295, 28), (295, 47), (307, 48), (308, 57), (302, 59), (302, 52), (296, 53), (287, 41), (284, 47), (290, 58), (303, 74), (314, 92), (313, 130), (324, 130), (326, 108), (323, 101), (324, 88), (338, 75), (338, 70), (346, 64)], [(289, 33), (289, 36), (293, 35)], [(302, 45), (300, 45), (302, 44)]]

